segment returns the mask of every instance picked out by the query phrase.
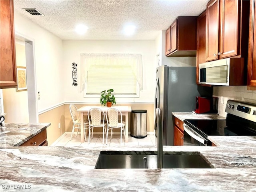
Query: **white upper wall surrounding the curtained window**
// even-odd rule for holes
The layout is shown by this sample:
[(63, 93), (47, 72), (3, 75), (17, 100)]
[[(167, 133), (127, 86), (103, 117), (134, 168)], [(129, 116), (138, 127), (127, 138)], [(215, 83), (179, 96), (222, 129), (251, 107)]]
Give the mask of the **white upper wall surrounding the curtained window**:
[[(136, 53), (142, 54), (143, 90), (139, 98), (120, 98), (116, 103), (154, 102), (156, 49), (153, 40), (63, 40), (63, 70), (66, 102), (91, 102), (99, 104), (100, 96), (86, 97), (80, 88), (80, 53)], [(78, 64), (78, 86), (72, 86), (72, 62)]]

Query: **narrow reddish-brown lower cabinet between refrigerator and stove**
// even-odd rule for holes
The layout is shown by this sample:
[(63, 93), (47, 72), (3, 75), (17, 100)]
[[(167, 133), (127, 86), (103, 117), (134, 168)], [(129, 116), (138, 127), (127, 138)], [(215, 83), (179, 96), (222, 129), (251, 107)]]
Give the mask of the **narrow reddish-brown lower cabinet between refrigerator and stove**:
[(174, 118), (174, 145), (183, 146), (184, 142), (184, 128), (183, 122), (178, 118)]

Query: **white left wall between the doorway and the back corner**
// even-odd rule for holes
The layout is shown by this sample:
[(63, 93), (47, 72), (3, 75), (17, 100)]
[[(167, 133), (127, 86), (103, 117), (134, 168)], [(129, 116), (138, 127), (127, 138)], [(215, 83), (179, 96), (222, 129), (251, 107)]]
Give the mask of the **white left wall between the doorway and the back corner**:
[(34, 40), (38, 111), (64, 102), (62, 40), (16, 12), (14, 28), (19, 35)]

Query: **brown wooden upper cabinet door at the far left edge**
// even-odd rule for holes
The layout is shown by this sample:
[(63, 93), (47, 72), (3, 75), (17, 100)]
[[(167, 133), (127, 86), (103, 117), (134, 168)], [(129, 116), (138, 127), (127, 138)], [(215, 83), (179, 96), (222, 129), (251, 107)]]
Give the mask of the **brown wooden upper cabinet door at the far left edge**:
[(14, 88), (17, 82), (13, 1), (0, 1), (0, 10), (0, 88)]

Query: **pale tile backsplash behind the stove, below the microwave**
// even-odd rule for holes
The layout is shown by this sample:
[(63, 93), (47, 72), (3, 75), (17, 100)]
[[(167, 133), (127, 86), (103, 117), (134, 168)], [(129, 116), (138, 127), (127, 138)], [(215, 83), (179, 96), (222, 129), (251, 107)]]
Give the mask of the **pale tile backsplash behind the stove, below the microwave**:
[[(247, 90), (246, 86), (219, 86), (213, 87), (213, 96), (218, 97), (218, 113), (226, 117), (226, 104), (229, 99), (256, 104), (256, 90)], [(221, 96), (224, 96), (224, 103), (221, 104)]]

